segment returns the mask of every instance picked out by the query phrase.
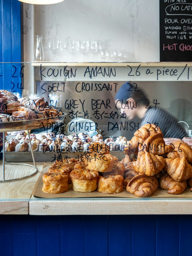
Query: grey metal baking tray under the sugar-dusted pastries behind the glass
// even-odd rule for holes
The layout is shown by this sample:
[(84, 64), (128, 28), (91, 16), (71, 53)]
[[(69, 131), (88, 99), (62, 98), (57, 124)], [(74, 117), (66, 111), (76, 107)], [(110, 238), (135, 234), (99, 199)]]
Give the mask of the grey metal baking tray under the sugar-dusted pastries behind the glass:
[[(39, 152), (35, 151), (34, 158), (36, 162), (54, 162), (55, 157), (58, 157), (57, 152)], [(86, 151), (75, 152), (75, 153), (62, 153), (62, 158), (80, 158), (81, 155), (86, 154)], [(119, 161), (125, 158), (124, 151), (110, 151), (112, 156), (116, 156)], [(32, 162), (32, 154), (29, 152), (5, 152), (5, 161), (6, 162)]]

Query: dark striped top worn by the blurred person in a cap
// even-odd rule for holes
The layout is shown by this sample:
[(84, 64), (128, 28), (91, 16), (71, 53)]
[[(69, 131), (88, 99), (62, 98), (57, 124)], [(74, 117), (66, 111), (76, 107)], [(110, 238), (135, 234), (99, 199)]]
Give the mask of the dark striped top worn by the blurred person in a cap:
[(156, 110), (149, 108), (146, 111), (140, 126), (147, 123), (153, 123), (159, 126), (164, 138), (182, 139), (183, 137), (188, 137), (183, 127), (178, 124), (178, 120), (161, 108), (156, 108)]

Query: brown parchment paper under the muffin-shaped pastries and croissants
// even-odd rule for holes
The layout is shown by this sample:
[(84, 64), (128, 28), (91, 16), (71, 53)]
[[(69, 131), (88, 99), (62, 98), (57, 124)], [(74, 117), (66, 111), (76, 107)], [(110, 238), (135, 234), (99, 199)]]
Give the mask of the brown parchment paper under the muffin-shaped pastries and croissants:
[[(50, 167), (50, 163), (44, 163), (43, 169), (41, 171), (41, 174), (39, 175), (39, 178), (36, 182), (36, 185), (34, 186), (33, 189), (33, 196), (36, 197), (42, 197), (42, 198), (78, 198), (78, 197), (127, 197), (127, 198), (141, 198), (137, 197), (134, 194), (129, 193), (127, 190), (123, 190), (120, 193), (117, 194), (105, 194), (105, 193), (99, 193), (97, 191), (93, 191), (90, 193), (83, 193), (83, 192), (76, 192), (72, 188), (72, 184), (69, 184), (69, 190), (60, 193), (60, 194), (49, 194), (49, 193), (44, 193), (42, 191), (43, 187), (43, 181), (42, 181), (42, 176), (45, 172), (48, 171)], [(182, 194), (177, 194), (177, 195), (171, 195), (167, 193), (167, 190), (162, 190), (161, 188), (158, 188), (157, 191), (150, 197), (191, 197), (192, 198), (192, 192), (190, 191), (190, 188), (186, 188), (186, 190)]]

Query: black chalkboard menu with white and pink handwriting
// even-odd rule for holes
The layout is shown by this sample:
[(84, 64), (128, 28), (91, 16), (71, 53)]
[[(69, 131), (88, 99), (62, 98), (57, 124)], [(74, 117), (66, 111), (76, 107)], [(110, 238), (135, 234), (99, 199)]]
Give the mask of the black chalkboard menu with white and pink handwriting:
[(192, 0), (160, 0), (160, 62), (192, 62)]

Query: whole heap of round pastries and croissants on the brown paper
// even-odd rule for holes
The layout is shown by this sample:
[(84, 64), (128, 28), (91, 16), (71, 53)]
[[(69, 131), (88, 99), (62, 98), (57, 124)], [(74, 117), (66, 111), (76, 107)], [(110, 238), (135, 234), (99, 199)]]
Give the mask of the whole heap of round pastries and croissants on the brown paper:
[[(181, 194), (187, 182), (192, 187), (192, 148), (180, 139), (166, 145), (160, 128), (154, 124), (138, 129), (124, 153), (125, 158), (118, 162), (105, 143), (94, 142), (81, 159), (62, 159), (52, 164), (43, 175), (42, 190), (63, 193), (72, 183), (78, 192), (115, 194), (125, 188), (135, 196), (149, 197), (158, 186), (169, 194)], [(138, 155), (137, 160), (132, 153)]]

